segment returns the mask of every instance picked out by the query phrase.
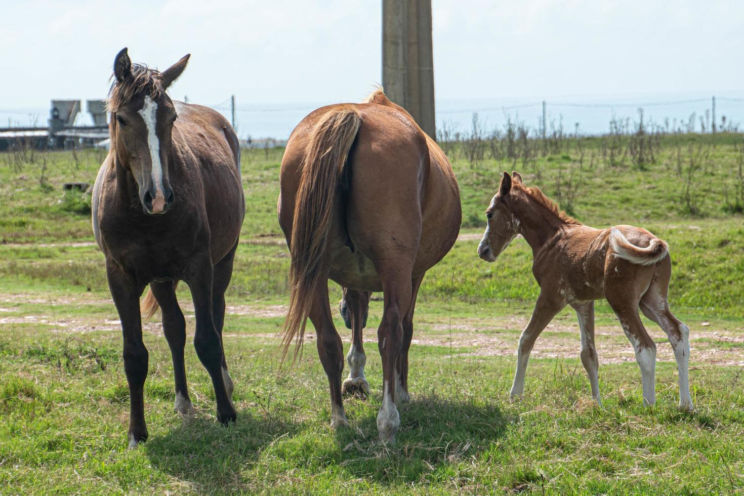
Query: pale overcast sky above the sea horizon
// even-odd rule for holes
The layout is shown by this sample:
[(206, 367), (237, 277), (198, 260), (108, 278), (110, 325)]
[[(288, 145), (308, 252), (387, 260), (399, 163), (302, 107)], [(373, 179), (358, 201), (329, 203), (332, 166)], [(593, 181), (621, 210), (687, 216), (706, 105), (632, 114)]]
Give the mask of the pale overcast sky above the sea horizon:
[[(359, 100), (380, 75), (379, 0), (4, 1), (0, 109), (103, 97), (115, 54), (214, 105)], [(744, 2), (433, 1), (437, 99), (744, 88)]]

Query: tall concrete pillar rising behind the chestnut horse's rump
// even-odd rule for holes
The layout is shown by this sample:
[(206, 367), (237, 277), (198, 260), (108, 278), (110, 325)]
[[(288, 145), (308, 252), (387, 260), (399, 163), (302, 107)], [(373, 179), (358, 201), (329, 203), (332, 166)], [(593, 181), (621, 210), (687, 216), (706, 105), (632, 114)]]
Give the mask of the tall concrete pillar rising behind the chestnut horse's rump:
[(382, 86), (432, 138), (432, 0), (382, 0)]

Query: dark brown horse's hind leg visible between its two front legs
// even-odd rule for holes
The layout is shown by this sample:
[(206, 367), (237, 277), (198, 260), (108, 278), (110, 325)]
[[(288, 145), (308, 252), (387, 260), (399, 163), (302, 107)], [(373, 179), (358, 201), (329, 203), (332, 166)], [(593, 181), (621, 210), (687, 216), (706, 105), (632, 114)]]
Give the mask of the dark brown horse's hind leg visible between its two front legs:
[(191, 413), (191, 400), (186, 387), (184, 347), (186, 345), (186, 321), (176, 300), (176, 286), (170, 281), (150, 283), (150, 291), (158, 300), (163, 315), (163, 334), (173, 358), (173, 379), (176, 381), (176, 411), (182, 415)]

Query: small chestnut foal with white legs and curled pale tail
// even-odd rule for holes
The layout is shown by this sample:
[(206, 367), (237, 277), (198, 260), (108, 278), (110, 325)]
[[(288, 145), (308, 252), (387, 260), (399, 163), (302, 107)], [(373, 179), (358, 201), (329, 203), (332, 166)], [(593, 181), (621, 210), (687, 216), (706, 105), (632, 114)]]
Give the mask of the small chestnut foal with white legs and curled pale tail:
[(641, 322), (639, 306), (667, 333), (679, 370), (679, 406), (693, 409), (687, 382), (690, 329), (669, 309), (672, 262), (666, 242), (629, 225), (601, 230), (582, 225), (559, 211), (539, 188), (525, 187), (518, 173), (504, 173), (486, 216), (478, 255), (493, 262), (521, 234), (532, 248), (532, 273), (540, 286), (532, 318), (519, 338), (512, 397), (525, 390), (527, 361), (540, 332), (571, 305), (579, 318), (580, 356), (591, 396), (602, 404), (594, 348), (594, 300), (605, 298), (635, 350), (644, 405), (655, 402), (656, 344)]

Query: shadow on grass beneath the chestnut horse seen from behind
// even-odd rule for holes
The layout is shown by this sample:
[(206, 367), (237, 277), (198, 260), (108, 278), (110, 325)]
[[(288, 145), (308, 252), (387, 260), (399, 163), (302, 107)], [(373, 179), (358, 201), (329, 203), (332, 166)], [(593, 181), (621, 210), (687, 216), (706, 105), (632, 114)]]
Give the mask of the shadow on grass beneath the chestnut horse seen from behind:
[(400, 431), (394, 446), (377, 440), (376, 414), (361, 419), (358, 430), (336, 434), (340, 465), (350, 477), (383, 484), (449, 479), (458, 463), (498, 442), (516, 420), (487, 402), (438, 396), (414, 399), (399, 411)]

